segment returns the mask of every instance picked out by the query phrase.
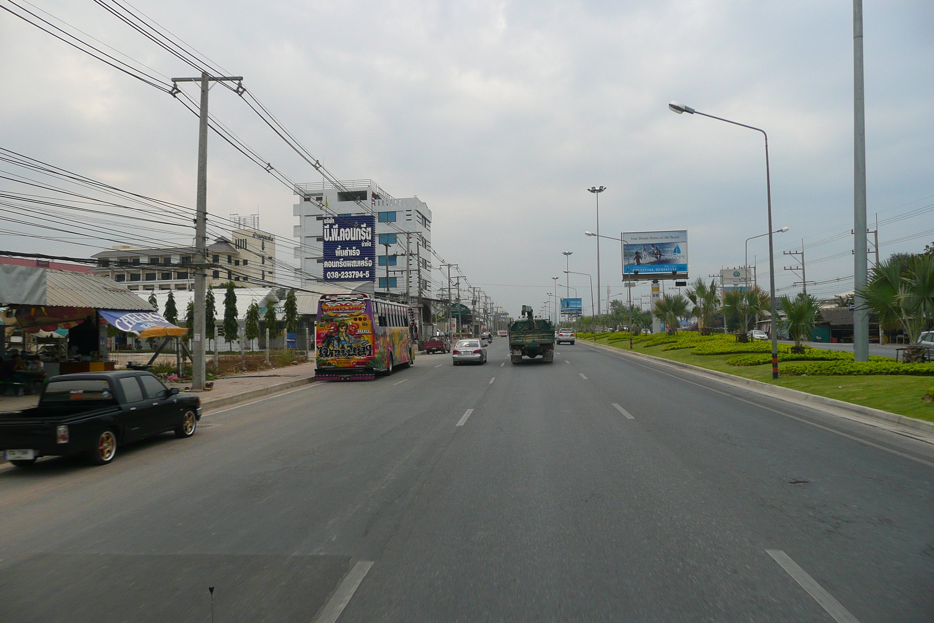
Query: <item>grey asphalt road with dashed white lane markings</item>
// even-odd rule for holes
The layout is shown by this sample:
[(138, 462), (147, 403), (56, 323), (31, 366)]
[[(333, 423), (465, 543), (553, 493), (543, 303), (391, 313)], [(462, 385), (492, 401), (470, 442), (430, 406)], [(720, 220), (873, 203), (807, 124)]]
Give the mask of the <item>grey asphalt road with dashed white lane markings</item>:
[(932, 619), (934, 446), (557, 350), (0, 469), (0, 621)]

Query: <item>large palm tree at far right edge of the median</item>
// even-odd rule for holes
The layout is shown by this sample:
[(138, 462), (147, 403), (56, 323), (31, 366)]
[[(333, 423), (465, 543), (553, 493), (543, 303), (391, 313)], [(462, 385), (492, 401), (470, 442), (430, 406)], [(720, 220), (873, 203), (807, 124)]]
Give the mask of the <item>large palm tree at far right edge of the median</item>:
[[(934, 320), (934, 257), (891, 256), (870, 272), (869, 282), (859, 290), (862, 308), (876, 312), (885, 328), (901, 327), (915, 344)], [(924, 351), (910, 348), (904, 361), (923, 361)]]

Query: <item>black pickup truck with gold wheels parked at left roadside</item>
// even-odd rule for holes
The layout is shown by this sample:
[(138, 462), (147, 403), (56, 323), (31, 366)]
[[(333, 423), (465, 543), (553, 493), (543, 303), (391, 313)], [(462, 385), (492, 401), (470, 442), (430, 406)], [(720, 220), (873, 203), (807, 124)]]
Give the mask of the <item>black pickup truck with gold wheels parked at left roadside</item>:
[(77, 454), (106, 465), (118, 445), (168, 431), (191, 437), (200, 419), (197, 396), (167, 389), (148, 372), (53, 376), (38, 406), (0, 413), (0, 449), (18, 467)]

